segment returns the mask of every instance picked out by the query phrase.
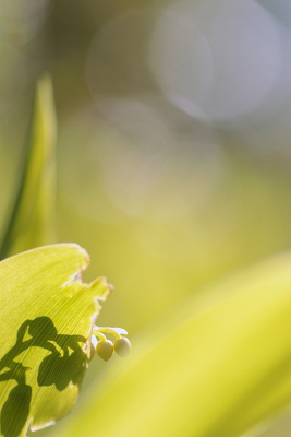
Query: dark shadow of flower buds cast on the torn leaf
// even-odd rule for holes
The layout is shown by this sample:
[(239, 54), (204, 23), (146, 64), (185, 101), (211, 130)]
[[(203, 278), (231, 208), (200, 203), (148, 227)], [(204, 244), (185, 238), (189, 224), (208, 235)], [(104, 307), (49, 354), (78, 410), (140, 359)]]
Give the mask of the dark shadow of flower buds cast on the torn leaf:
[[(24, 340), (28, 333), (29, 339)], [(58, 334), (57, 328), (49, 317), (37, 317), (26, 320), (20, 327), (16, 342), (0, 359), (0, 382), (15, 380), (3, 404), (0, 417), (1, 435), (17, 437), (23, 430), (31, 409), (32, 387), (26, 383), (29, 367), (15, 362), (15, 358), (31, 347), (41, 347), (50, 352), (38, 367), (37, 383), (39, 387), (56, 386), (59, 391), (70, 383), (80, 385), (86, 369), (87, 357), (78, 343), (85, 343), (82, 335)]]

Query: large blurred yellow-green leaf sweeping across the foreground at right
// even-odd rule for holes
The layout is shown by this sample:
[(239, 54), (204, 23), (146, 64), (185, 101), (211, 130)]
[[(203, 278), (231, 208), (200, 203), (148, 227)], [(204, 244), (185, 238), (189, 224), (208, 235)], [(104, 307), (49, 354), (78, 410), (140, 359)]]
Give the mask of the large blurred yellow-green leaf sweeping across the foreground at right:
[(57, 436), (250, 430), (291, 399), (291, 253), (184, 299), (137, 340), (123, 368), (102, 376)]

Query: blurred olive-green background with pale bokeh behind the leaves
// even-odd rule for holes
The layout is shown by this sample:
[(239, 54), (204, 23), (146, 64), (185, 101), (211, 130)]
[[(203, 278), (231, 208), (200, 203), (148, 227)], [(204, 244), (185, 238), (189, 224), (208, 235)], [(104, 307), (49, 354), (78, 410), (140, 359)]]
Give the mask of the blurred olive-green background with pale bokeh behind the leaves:
[[(98, 324), (134, 338), (201, 285), (290, 248), (290, 31), (289, 0), (1, 2), (0, 220), (49, 71), (58, 241), (86, 248), (86, 281), (116, 287)], [(84, 392), (105, 366), (92, 363)]]

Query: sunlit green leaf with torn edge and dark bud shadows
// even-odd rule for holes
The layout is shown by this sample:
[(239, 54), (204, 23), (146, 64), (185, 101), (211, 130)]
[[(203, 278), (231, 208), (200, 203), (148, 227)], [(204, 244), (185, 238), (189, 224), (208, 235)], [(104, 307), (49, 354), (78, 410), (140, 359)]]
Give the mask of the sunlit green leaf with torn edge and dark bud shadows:
[(92, 327), (110, 286), (81, 282), (89, 258), (77, 245), (33, 249), (0, 262), (0, 426), (25, 436), (73, 406)]

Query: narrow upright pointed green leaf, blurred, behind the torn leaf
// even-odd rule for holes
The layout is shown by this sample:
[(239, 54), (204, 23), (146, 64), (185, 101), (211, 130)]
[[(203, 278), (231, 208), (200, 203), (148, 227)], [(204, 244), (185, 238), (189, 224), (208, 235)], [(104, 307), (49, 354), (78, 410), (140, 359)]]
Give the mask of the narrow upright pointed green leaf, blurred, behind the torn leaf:
[(26, 156), (0, 259), (53, 243), (56, 115), (49, 76), (37, 84)]

